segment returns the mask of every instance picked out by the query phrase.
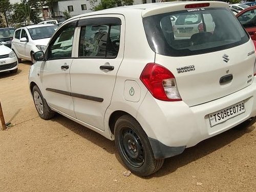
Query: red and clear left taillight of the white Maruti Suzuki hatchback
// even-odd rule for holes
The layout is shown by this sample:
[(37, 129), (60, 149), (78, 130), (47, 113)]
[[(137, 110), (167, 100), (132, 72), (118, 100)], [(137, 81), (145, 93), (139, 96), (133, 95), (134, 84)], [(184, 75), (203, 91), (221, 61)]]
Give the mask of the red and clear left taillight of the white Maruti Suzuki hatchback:
[(156, 63), (147, 63), (140, 80), (153, 97), (162, 101), (181, 101), (177, 83), (172, 72)]

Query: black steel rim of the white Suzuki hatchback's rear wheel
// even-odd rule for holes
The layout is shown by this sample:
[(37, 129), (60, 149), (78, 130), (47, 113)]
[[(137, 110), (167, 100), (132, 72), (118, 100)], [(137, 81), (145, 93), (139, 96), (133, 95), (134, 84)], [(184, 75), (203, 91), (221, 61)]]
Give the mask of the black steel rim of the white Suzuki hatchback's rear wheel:
[(123, 127), (119, 135), (119, 146), (125, 160), (134, 167), (144, 163), (145, 153), (141, 139), (130, 127)]

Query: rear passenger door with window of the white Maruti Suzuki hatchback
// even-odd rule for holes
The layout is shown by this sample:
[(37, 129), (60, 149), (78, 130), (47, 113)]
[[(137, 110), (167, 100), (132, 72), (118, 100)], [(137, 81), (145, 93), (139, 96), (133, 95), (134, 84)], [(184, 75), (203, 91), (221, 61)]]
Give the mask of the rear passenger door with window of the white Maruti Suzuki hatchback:
[(77, 55), (71, 70), (71, 95), (78, 120), (104, 130), (116, 74), (123, 59), (124, 17), (80, 18)]

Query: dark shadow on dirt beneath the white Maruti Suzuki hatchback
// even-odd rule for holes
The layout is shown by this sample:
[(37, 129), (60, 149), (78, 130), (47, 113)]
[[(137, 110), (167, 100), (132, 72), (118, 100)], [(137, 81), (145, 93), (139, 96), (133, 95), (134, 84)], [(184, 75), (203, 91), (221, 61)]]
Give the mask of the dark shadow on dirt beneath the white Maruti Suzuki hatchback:
[[(67, 129), (72, 132), (78, 134), (84, 139), (93, 142), (94, 144), (103, 148), (106, 152), (110, 154), (115, 154), (118, 161), (124, 166), (119, 155), (117, 154), (117, 150), (115, 148), (115, 142), (106, 139), (100, 134), (84, 127), (62, 115), (57, 114), (52, 121), (56, 121), (61, 125), (67, 127)], [(164, 168), (161, 168), (157, 173), (146, 177), (145, 179), (151, 179), (154, 177), (162, 177), (168, 175), (170, 173), (175, 172), (179, 167), (185, 166), (193, 161), (196, 161), (200, 158), (203, 158), (212, 152), (217, 151), (219, 148), (222, 148), (232, 141), (240, 138), (244, 134), (250, 133), (255, 129), (254, 126), (249, 127), (248, 129), (234, 129), (228, 130), (220, 135), (211, 137), (206, 139), (194, 147), (187, 148), (181, 155), (165, 159), (163, 164)]]

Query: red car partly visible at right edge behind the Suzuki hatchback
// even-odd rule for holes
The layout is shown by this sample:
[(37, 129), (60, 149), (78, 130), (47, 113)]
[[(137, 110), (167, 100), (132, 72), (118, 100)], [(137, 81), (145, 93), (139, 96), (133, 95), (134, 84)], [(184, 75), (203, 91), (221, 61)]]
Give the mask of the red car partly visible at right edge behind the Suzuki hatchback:
[(256, 8), (237, 14), (237, 18), (252, 40), (256, 40)]

